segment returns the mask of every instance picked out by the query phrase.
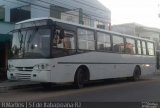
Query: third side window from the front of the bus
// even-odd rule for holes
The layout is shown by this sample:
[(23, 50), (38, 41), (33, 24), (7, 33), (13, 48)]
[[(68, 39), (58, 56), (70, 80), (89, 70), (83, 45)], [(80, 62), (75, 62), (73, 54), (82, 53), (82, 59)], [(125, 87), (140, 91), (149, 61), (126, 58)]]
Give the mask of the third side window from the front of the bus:
[(101, 32), (97, 33), (97, 49), (100, 51), (110, 51), (111, 42), (109, 34)]

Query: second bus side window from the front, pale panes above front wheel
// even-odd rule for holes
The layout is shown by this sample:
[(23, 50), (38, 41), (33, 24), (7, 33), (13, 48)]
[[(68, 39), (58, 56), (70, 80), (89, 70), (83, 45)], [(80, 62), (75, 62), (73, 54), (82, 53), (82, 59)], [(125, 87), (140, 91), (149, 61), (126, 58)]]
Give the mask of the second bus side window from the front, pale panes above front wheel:
[(95, 50), (94, 32), (86, 29), (78, 29), (78, 46), (83, 50)]

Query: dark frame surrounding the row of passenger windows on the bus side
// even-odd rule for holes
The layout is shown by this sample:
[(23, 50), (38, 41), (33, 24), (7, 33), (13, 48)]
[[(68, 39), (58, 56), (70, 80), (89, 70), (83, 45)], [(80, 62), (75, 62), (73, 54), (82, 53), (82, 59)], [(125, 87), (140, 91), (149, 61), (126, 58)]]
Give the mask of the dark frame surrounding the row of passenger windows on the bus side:
[[(147, 40), (144, 40), (144, 39), (141, 39), (141, 38), (136, 38), (136, 37), (134, 38), (134, 37), (130, 37), (130, 36), (127, 36), (127, 35), (118, 34), (118, 33), (110, 32), (110, 31), (108, 31), (108, 32), (107, 31), (103, 31), (103, 30), (101, 31), (101, 30), (88, 28), (88, 27), (77, 26), (77, 25), (73, 26), (73, 25), (65, 24), (65, 23), (61, 23), (61, 22), (56, 22), (56, 23), (59, 23), (61, 26), (68, 25), (68, 26), (72, 26), (71, 28), (74, 28), (74, 30), (71, 30), (71, 29), (68, 29), (68, 28), (65, 28), (65, 30), (73, 31), (73, 32), (76, 33), (75, 34), (75, 39), (74, 39), (76, 54), (83, 53), (83, 52), (91, 52), (91, 51), (117, 53), (117, 54), (129, 54), (129, 53), (126, 53), (125, 42), (127, 41), (127, 39), (131, 39), (131, 40), (134, 40), (134, 42), (135, 42), (135, 52), (134, 52), (134, 54), (130, 54), (130, 55), (145, 55), (144, 52), (143, 52), (143, 47), (142, 47), (142, 42), (144, 42), (145, 43), (145, 48), (146, 48), (146, 56), (147, 55), (149, 56), (148, 47), (147, 47)], [(89, 31), (89, 32), (93, 32), (94, 39), (91, 42), (94, 42), (94, 50), (90, 50), (88, 48), (86, 48), (86, 49), (80, 49), (79, 48), (79, 39), (78, 39), (79, 38), (78, 37), (78, 35), (79, 35), (78, 30), (79, 29), (85, 30), (85, 31)], [(99, 50), (98, 49), (98, 33), (103, 33), (103, 34), (105, 34), (105, 35), (110, 37), (110, 50), (109, 51), (107, 51), (106, 49), (104, 49), (104, 50)], [(124, 45), (123, 48), (124, 48), (124, 50), (122, 48), (122, 50), (120, 50), (121, 52), (113, 51), (113, 49), (114, 49), (113, 48), (113, 44), (114, 44), (113, 38), (114, 38), (114, 36), (122, 38), (122, 40), (123, 40), (123, 45)], [(88, 39), (86, 41), (88, 41)], [(138, 52), (138, 48), (139, 48), (138, 44), (137, 44), (138, 41), (140, 42), (141, 54), (139, 54), (139, 52)], [(149, 42), (151, 42), (151, 41), (149, 41)], [(106, 42), (104, 41), (103, 44), (105, 44), (105, 43)], [(155, 46), (154, 46), (154, 48), (155, 48)]]

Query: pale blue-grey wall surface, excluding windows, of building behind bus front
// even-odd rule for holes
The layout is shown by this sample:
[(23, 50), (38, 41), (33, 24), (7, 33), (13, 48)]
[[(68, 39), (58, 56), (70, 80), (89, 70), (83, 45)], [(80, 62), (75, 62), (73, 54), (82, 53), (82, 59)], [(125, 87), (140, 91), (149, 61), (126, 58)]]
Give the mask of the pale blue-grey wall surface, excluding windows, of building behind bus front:
[[(5, 7), (5, 21), (10, 21), (10, 9), (31, 5), (31, 18), (49, 17), (51, 5), (57, 5), (77, 11), (83, 9), (83, 13), (93, 20), (111, 23), (111, 12), (97, 0), (1, 0), (0, 5)], [(90, 21), (93, 22), (93, 21)], [(94, 24), (92, 24), (94, 26)]]

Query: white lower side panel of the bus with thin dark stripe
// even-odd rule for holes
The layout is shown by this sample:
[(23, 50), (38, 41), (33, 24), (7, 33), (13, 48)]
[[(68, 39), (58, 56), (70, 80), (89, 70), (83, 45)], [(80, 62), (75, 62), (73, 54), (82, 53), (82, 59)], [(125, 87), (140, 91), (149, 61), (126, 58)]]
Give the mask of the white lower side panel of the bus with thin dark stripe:
[(76, 70), (81, 65), (88, 67), (90, 80), (131, 77), (137, 65), (140, 66), (142, 75), (155, 71), (154, 57), (141, 55), (89, 52), (53, 61), (55, 60), (57, 64), (51, 72), (51, 81), (58, 83), (73, 82)]

